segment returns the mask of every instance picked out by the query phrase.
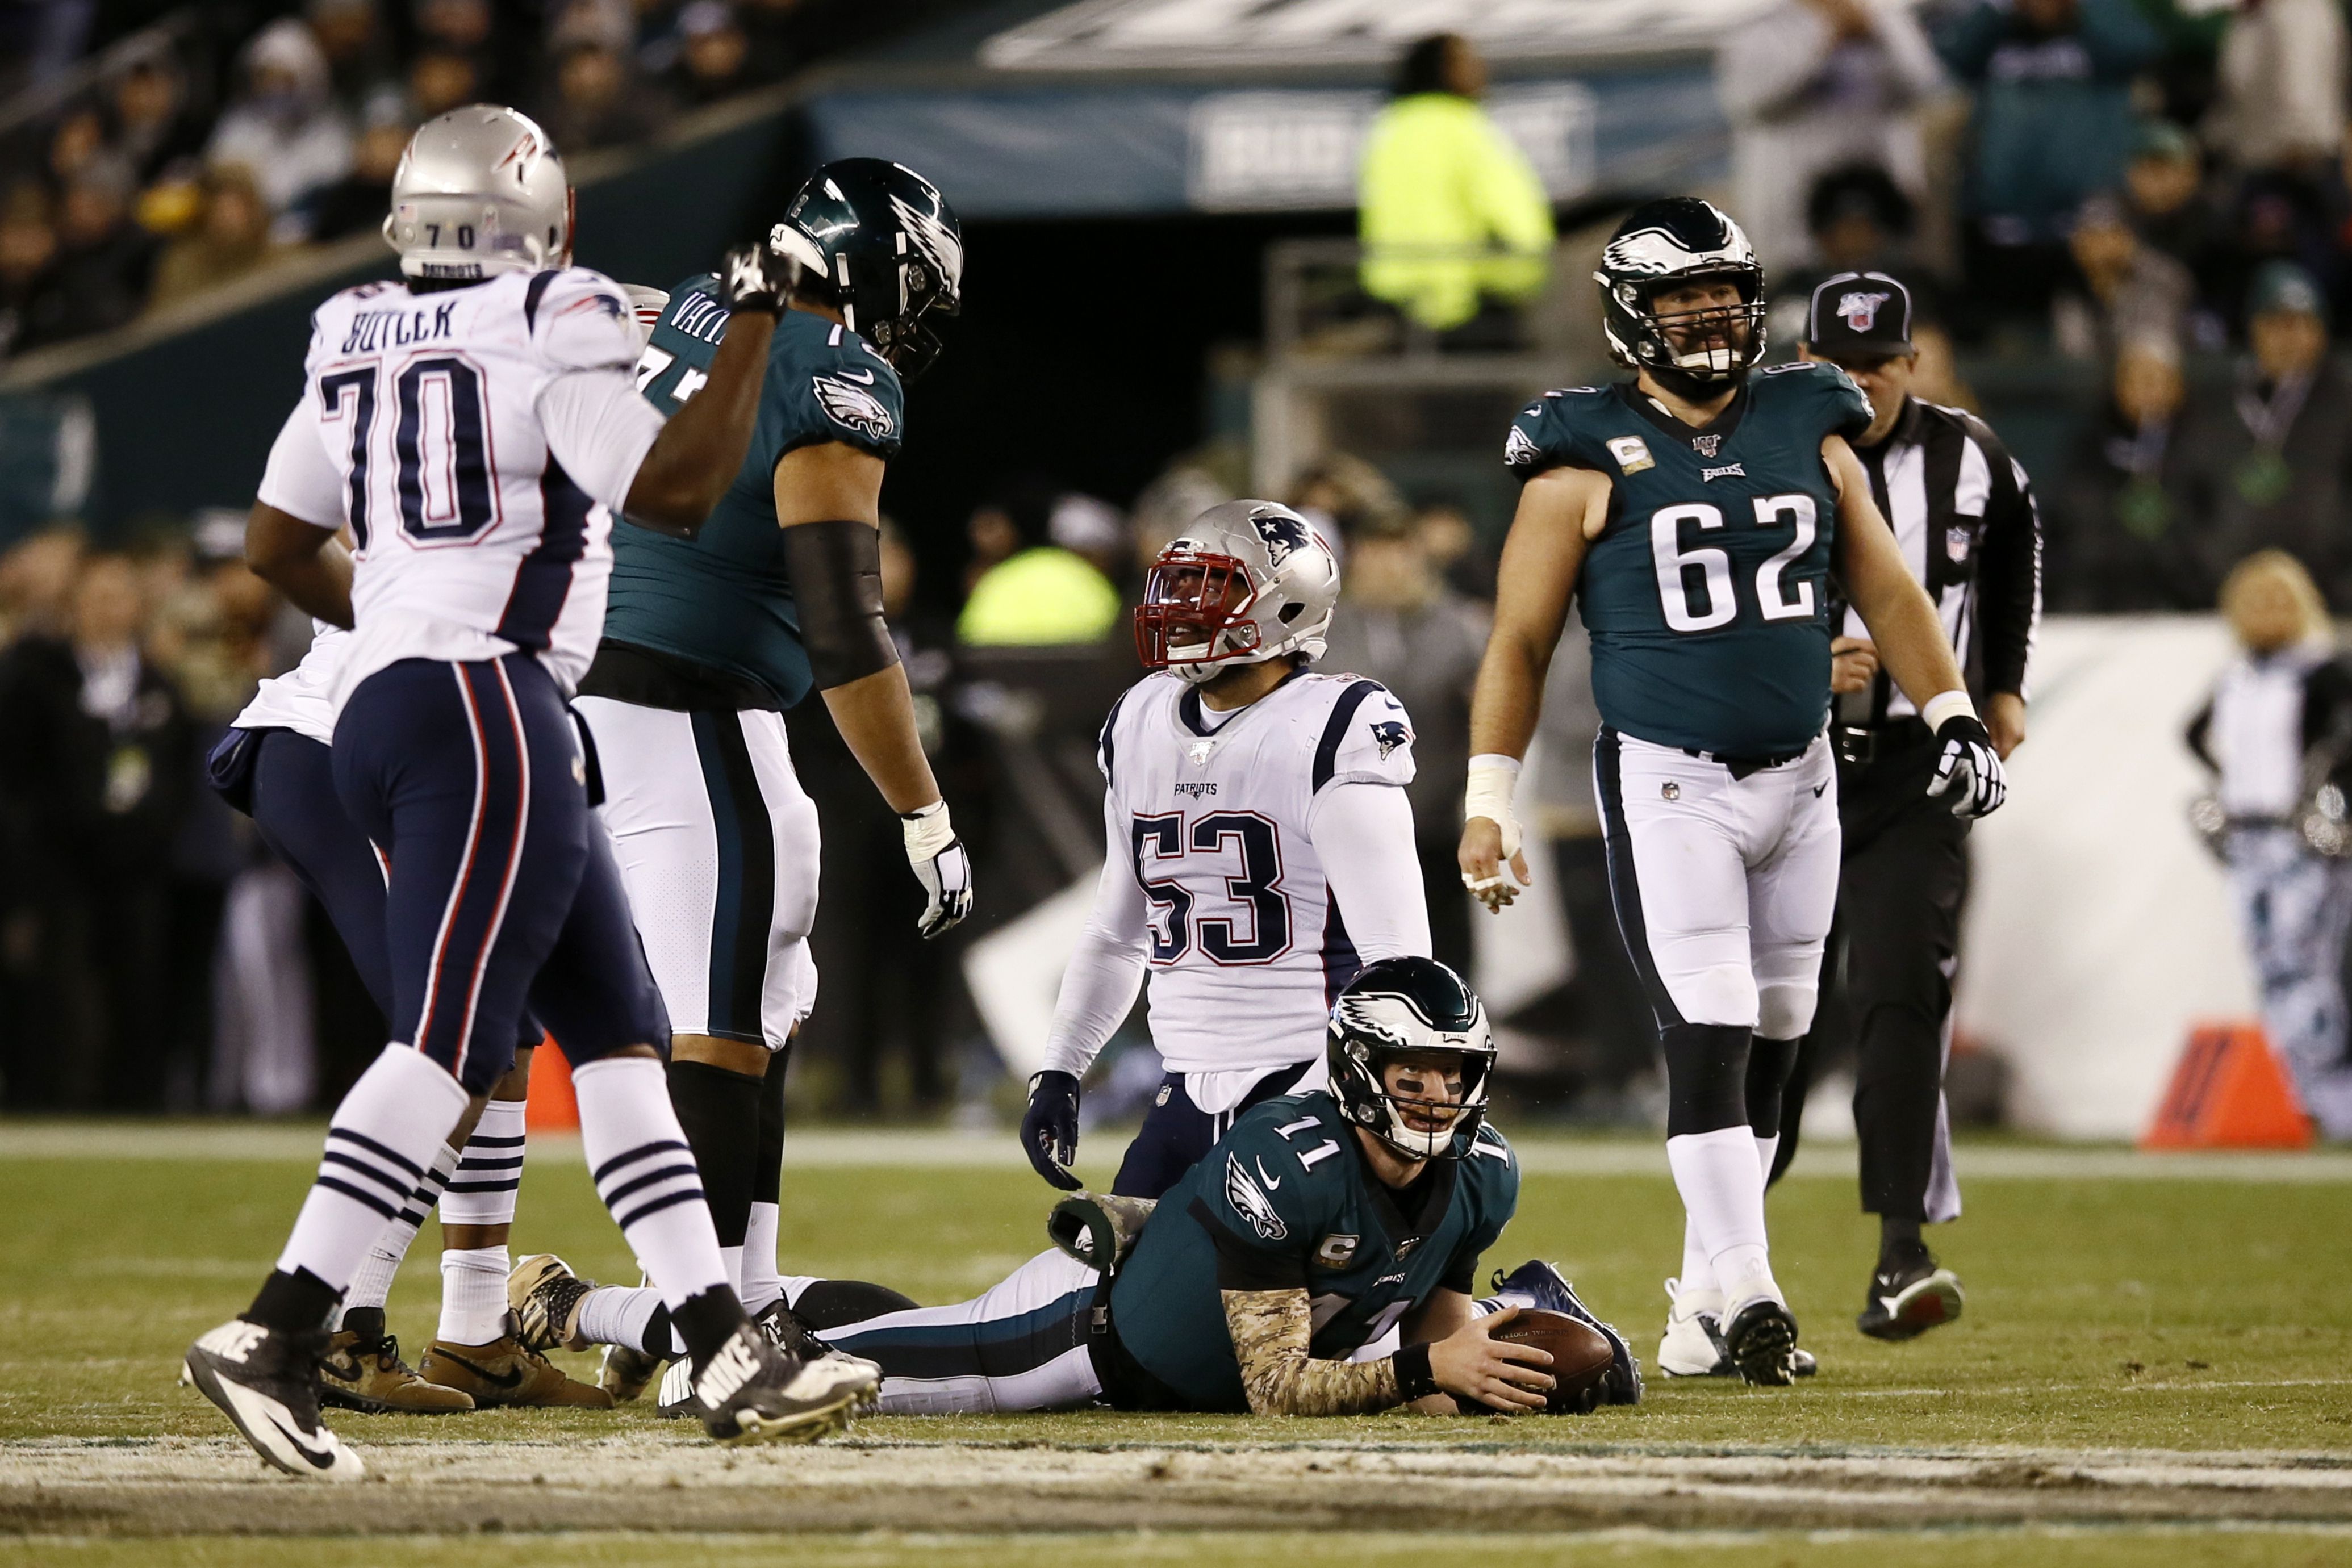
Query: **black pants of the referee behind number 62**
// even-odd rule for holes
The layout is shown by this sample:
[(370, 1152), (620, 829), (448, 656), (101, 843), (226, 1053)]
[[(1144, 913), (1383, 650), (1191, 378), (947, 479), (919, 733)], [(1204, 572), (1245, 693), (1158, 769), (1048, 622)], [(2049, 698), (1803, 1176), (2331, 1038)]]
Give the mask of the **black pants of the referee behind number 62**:
[(1929, 1213), (1940, 1147), (1943, 1065), (1952, 1018), (1952, 957), (1969, 891), (1969, 827), (1926, 795), (1931, 736), (1872, 762), (1837, 766), (1844, 858), (1837, 922), (1823, 952), (1820, 1009), (1780, 1098), (1773, 1178), (1797, 1152), (1811, 1081), (1853, 1048), (1853, 1124), (1863, 1211)]

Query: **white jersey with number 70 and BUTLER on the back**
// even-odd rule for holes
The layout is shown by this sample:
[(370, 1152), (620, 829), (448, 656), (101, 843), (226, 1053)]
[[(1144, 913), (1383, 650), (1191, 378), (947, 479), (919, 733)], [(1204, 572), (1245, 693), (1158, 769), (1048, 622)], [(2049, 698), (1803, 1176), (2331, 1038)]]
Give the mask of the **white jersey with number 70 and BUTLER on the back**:
[[(336, 708), (400, 658), (520, 649), (564, 691), (576, 686), (604, 623), (612, 508), (652, 435), (642, 414), (616, 409), (614, 440), (593, 461), (588, 442), (569, 444), (583, 473), (567, 473), (541, 395), (588, 371), (590, 407), (621, 395), (642, 407), (635, 362), (628, 296), (586, 268), (426, 294), (372, 282), (318, 308), (303, 409), (270, 454), (261, 501), (320, 527), (348, 524), (358, 543), (358, 628)], [(579, 400), (564, 407), (579, 425)], [(329, 517), (318, 515), (320, 454), (289, 449), (303, 418), (336, 482)]]

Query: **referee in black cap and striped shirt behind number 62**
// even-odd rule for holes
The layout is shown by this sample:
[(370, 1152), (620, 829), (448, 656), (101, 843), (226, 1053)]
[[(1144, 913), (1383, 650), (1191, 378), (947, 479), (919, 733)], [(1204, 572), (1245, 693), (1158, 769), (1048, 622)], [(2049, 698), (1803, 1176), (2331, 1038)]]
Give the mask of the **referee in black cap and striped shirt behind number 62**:
[[(1973, 414), (1910, 395), (1912, 299), (1884, 273), (1839, 273), (1813, 289), (1802, 355), (1839, 364), (1877, 418), (1853, 437), (1903, 557), (1943, 614), (1992, 745), (2025, 738), (2025, 661), (2042, 618), (2042, 524), (2025, 470)], [(1835, 1018), (1853, 1034), (1853, 1121), (1863, 1211), (1879, 1215), (1879, 1260), (1856, 1326), (1907, 1340), (1959, 1316), (1959, 1279), (1919, 1227), (1959, 1218), (1943, 1067), (1952, 1046), (1952, 954), (1969, 884), (1969, 825), (1926, 795), (1936, 736), (1879, 670), (1846, 607), (1830, 646), (1830, 743), (1844, 865), (1823, 957), (1825, 1006), (1783, 1095), (1773, 1178), (1797, 1150), (1804, 1093)], [(1839, 985), (1842, 978), (1842, 985)]]

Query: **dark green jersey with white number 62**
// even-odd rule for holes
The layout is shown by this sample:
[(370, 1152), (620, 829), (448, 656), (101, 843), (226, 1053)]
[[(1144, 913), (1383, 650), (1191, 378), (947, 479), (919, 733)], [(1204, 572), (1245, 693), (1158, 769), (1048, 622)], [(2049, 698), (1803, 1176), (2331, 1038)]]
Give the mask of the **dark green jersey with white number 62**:
[(1835, 364), (1757, 371), (1705, 430), (1632, 383), (1545, 393), (1510, 425), (1503, 463), (1609, 475), (1609, 524), (1576, 599), (1592, 630), (1592, 698), (1611, 729), (1724, 757), (1804, 750), (1830, 719), (1825, 435), (1870, 428)]

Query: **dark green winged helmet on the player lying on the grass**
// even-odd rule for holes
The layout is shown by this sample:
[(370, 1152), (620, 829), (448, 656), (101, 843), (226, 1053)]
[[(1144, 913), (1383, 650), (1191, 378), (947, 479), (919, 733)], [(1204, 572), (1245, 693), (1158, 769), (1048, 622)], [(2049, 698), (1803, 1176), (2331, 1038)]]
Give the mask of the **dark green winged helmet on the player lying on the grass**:
[[(1461, 1058), (1458, 1100), (1390, 1093), (1390, 1063), (1432, 1053)], [(1437, 959), (1367, 964), (1331, 1006), (1324, 1058), (1341, 1117), (1404, 1159), (1461, 1159), (1486, 1119), (1494, 1079), (1486, 1006)]]

